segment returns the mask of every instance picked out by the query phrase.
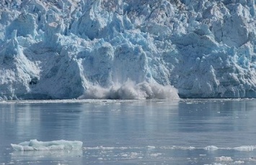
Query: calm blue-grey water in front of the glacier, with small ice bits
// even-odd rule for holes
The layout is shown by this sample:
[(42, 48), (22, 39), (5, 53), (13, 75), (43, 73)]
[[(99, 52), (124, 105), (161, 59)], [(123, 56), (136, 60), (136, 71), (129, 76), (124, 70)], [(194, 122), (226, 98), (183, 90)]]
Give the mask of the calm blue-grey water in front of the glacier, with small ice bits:
[[(256, 100), (0, 103), (0, 164), (256, 164)], [(11, 143), (83, 141), (76, 151)]]

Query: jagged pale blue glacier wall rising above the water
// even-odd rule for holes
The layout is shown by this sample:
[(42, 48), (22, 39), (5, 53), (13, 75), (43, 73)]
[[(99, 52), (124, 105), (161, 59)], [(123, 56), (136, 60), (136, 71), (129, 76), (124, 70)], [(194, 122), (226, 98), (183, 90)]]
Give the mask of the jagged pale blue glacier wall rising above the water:
[(256, 98), (255, 0), (5, 0), (0, 100)]

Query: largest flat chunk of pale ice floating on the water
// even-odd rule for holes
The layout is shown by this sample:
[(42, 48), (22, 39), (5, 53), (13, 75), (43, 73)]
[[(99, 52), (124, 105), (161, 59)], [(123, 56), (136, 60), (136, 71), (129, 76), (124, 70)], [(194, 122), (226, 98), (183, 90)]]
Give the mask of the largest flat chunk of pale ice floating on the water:
[(15, 151), (56, 151), (81, 149), (83, 142), (81, 141), (37, 141), (30, 140), (19, 144), (11, 144)]

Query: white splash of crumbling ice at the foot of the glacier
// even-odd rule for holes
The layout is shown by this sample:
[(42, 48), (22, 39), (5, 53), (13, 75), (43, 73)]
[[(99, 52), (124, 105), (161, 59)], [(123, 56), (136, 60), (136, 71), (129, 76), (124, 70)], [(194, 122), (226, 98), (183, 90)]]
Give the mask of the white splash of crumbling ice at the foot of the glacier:
[(110, 88), (102, 88), (92, 85), (79, 97), (80, 99), (121, 99), (121, 100), (145, 100), (145, 99), (179, 99), (177, 90), (171, 85), (159, 85), (157, 83), (138, 83), (127, 80), (123, 85), (112, 85)]

